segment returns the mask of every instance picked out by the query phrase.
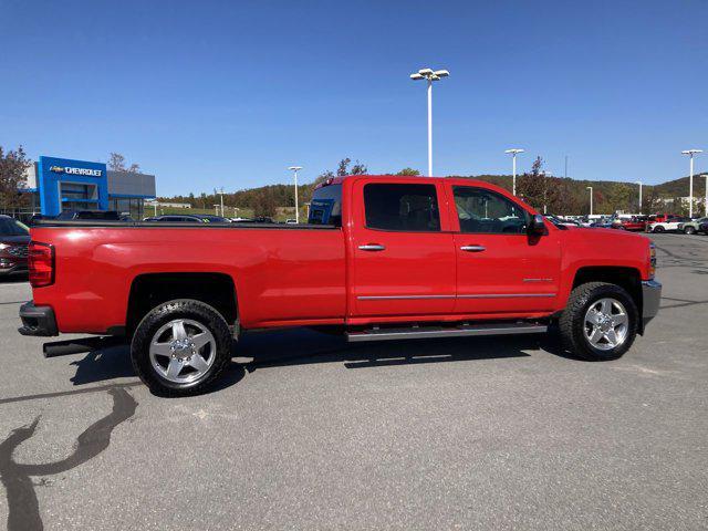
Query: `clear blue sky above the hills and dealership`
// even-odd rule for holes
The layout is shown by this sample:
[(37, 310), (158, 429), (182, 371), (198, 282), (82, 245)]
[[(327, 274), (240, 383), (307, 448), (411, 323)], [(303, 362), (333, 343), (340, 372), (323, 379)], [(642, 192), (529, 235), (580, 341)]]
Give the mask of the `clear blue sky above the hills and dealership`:
[[(119, 152), (160, 195), (371, 173), (660, 183), (708, 150), (708, 2), (0, 0), (0, 145)], [(708, 170), (708, 153), (697, 158)]]

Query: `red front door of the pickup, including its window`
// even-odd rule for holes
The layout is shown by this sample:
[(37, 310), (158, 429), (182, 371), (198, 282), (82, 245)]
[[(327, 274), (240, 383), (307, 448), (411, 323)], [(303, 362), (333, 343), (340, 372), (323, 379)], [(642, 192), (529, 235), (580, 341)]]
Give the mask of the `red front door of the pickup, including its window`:
[(496, 190), (445, 186), (457, 257), (455, 313), (503, 316), (552, 310), (560, 281), (556, 231), (529, 236), (530, 214)]

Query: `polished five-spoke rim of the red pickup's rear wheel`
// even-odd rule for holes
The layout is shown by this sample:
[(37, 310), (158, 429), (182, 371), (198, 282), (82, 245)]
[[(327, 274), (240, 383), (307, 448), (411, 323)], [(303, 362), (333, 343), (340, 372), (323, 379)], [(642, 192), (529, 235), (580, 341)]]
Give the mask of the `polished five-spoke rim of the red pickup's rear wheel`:
[(153, 368), (169, 382), (189, 384), (201, 378), (217, 357), (217, 342), (207, 327), (188, 319), (162, 326), (153, 336)]

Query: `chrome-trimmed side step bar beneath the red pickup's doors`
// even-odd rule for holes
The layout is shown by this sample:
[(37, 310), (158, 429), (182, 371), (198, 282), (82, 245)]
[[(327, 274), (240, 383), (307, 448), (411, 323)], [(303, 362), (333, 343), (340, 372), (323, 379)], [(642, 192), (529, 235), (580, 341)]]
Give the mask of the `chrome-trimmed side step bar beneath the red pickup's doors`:
[(347, 332), (346, 341), (421, 340), (425, 337), (458, 337), (462, 335), (543, 334), (548, 325), (534, 323), (494, 323), (459, 326), (413, 326), (407, 329), (372, 329)]

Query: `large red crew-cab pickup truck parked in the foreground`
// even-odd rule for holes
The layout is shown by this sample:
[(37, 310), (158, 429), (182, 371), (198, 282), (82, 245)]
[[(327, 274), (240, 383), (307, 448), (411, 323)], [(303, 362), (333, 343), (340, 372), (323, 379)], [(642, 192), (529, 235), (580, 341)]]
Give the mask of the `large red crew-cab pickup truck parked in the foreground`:
[(587, 360), (624, 354), (662, 285), (643, 236), (555, 226), (464, 178), (351, 176), (306, 225), (40, 221), (25, 335), (124, 335), (155, 392), (195, 393), (256, 329), (350, 342), (546, 332)]

